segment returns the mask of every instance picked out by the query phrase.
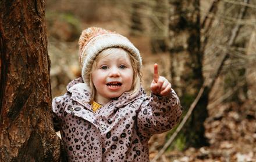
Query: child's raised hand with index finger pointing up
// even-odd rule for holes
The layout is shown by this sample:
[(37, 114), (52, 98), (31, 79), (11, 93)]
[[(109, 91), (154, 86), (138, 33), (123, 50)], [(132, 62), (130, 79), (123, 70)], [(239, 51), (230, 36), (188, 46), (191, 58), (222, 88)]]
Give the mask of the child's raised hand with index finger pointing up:
[(171, 87), (172, 87), (172, 84), (170, 84), (170, 82), (166, 78), (158, 75), (158, 65), (155, 64), (154, 79), (150, 86), (152, 93), (158, 94), (158, 95), (168, 95)]

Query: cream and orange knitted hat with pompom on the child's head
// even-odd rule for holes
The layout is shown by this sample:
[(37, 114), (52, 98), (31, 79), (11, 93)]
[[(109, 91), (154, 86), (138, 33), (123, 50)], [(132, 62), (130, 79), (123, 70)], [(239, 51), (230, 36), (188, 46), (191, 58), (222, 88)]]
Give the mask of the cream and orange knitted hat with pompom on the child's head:
[(140, 62), (138, 69), (141, 68), (142, 60), (140, 51), (138, 51), (129, 39), (116, 32), (97, 27), (90, 27), (84, 30), (79, 38), (79, 61), (82, 67), (84, 83), (90, 85), (90, 75), (88, 75), (88, 73), (91, 72), (93, 61), (102, 50), (110, 47), (120, 47), (129, 51), (129, 53)]

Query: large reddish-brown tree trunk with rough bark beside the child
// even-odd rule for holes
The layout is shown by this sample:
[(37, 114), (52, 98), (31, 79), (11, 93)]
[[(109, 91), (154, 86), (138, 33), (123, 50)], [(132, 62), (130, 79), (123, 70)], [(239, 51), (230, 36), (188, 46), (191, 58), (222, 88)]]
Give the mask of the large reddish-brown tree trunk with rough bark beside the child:
[(0, 1), (0, 161), (60, 161), (44, 1)]

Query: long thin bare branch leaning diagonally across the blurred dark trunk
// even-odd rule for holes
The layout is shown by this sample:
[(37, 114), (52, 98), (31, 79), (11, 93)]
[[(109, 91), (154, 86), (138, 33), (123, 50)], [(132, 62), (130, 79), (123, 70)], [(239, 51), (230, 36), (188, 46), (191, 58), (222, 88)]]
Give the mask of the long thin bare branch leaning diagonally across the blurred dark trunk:
[[(245, 3), (248, 3), (248, 0), (244, 0)], [(243, 19), (243, 16), (246, 12), (246, 6), (244, 6), (244, 8), (242, 8), (240, 10), (239, 13), (239, 19)], [(232, 30), (232, 35), (230, 36), (229, 42), (227, 43), (229, 46), (232, 46), (236, 36), (238, 34), (239, 28), (241, 27), (241, 25), (237, 24), (233, 30)], [(163, 146), (163, 148), (159, 151), (159, 153), (157, 154), (157, 156), (154, 157), (154, 159), (152, 160), (152, 162), (156, 162), (156, 160), (162, 156), (162, 154), (165, 152), (165, 150), (169, 147), (169, 145), (173, 142), (173, 140), (175, 139), (175, 137), (177, 136), (177, 134), (180, 132), (180, 130), (182, 130), (184, 124), (186, 123), (187, 119), (189, 119), (191, 113), (193, 112), (195, 106), (198, 104), (198, 101), (200, 100), (202, 94), (204, 93), (205, 89), (208, 88), (209, 91), (211, 91), (212, 87), (214, 86), (214, 83), (216, 81), (216, 79), (219, 76), (219, 73), (221, 73), (221, 70), (223, 68), (223, 64), (224, 62), (227, 60), (228, 58), (228, 53), (224, 53), (223, 57), (222, 57), (222, 61), (221, 64), (219, 64), (219, 67), (216, 69), (215, 74), (213, 75), (213, 78), (210, 80), (211, 82), (208, 84), (208, 80), (209, 79), (205, 79), (204, 84), (202, 84), (202, 87), (200, 89), (200, 91), (197, 94), (197, 97), (195, 98), (195, 100), (193, 101), (193, 103), (190, 105), (189, 111), (187, 112), (186, 116), (184, 116), (182, 122), (179, 124), (179, 126), (177, 127), (176, 131), (172, 134), (172, 136), (168, 139), (168, 141), (165, 143), (165, 145)]]

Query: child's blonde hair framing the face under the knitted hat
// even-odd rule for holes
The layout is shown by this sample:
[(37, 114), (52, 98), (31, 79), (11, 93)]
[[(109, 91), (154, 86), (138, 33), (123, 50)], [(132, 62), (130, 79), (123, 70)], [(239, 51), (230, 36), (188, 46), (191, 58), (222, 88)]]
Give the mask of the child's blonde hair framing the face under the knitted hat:
[(98, 54), (98, 56), (95, 58), (95, 60), (93, 62), (93, 66), (91, 67), (90, 73), (87, 74), (87, 75), (89, 75), (89, 83), (90, 83), (90, 89), (91, 89), (91, 101), (94, 100), (94, 95), (95, 95), (95, 87), (94, 87), (93, 81), (91, 79), (91, 75), (92, 75), (94, 69), (97, 67), (98, 61), (101, 60), (102, 58), (108, 56), (109, 54), (119, 54), (120, 51), (125, 51), (127, 56), (129, 56), (130, 61), (131, 61), (131, 67), (133, 68), (133, 83), (131, 84), (131, 89), (130, 89), (130, 91), (128, 91), (128, 93), (135, 94), (140, 90), (140, 83), (141, 83), (141, 72), (140, 72), (140, 68), (139, 68), (140, 62), (125, 49), (122, 49), (120, 47), (111, 47), (111, 48), (101, 51)]

